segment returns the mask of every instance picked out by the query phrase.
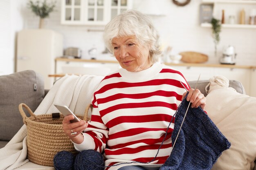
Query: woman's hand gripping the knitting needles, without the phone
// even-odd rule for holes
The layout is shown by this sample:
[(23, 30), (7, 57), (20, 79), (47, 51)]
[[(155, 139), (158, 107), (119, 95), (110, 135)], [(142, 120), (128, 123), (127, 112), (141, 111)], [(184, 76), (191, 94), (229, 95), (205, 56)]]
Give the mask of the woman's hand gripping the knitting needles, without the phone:
[[(182, 100), (184, 99), (186, 94), (187, 92), (183, 93)], [(204, 110), (204, 107), (206, 105), (206, 98), (204, 97), (204, 94), (202, 94), (198, 89), (191, 88), (189, 90), (188, 96), (186, 97), (186, 100), (191, 101), (191, 108), (198, 108), (198, 106), (200, 106)]]

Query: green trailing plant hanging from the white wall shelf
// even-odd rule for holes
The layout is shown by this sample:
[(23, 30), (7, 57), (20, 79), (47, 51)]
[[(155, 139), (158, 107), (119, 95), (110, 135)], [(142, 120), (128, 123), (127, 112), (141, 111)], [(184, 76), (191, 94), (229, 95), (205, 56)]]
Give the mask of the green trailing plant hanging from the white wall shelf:
[(212, 36), (213, 36), (213, 42), (215, 46), (215, 57), (217, 56), (217, 45), (220, 42), (220, 32), (221, 32), (221, 22), (220, 20), (217, 20), (216, 18), (211, 19), (211, 29), (212, 29)]

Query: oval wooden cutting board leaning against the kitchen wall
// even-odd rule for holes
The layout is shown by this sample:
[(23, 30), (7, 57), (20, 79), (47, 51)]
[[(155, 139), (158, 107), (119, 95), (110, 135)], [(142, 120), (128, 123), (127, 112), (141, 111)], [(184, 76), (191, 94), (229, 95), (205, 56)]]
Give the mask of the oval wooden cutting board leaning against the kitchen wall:
[(185, 51), (180, 53), (182, 55), (181, 61), (182, 62), (189, 62), (189, 63), (203, 63), (208, 61), (208, 55), (193, 52), (193, 51)]

